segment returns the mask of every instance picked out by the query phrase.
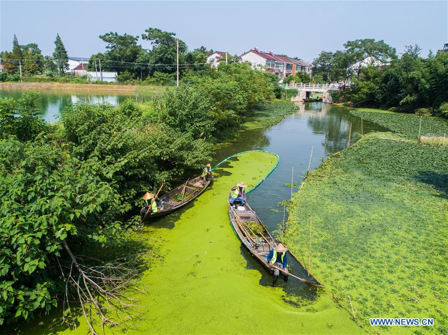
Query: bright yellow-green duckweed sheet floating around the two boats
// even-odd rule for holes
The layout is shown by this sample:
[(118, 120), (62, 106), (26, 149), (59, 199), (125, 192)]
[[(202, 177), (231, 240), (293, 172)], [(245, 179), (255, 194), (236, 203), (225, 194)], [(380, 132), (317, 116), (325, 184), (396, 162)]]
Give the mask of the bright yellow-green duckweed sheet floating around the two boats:
[[(241, 180), (252, 188), (276, 163), (269, 153), (241, 154), (214, 171), (215, 182), (174, 227), (168, 217), (136, 233), (160, 240), (164, 261), (154, 262), (141, 278), (147, 294), (139, 296), (140, 318), (106, 333), (359, 334), (327, 291), (318, 291), (315, 300), (286, 295), (280, 287), (260, 285), (260, 271), (246, 267), (229, 224), (228, 192)], [(77, 330), (61, 333), (86, 334), (81, 317), (79, 322)], [(41, 334), (47, 327), (30, 327), (27, 334)]]

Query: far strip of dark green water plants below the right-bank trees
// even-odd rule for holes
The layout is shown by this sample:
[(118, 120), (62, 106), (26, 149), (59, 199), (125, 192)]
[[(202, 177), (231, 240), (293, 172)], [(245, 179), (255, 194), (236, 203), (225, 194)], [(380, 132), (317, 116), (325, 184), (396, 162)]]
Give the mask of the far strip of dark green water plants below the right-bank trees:
[[(417, 139), (419, 135), (420, 116), (416, 114), (395, 113), (369, 108), (352, 109), (350, 113), (411, 138)], [(447, 132), (448, 120), (438, 117), (422, 117), (421, 135), (444, 136)]]

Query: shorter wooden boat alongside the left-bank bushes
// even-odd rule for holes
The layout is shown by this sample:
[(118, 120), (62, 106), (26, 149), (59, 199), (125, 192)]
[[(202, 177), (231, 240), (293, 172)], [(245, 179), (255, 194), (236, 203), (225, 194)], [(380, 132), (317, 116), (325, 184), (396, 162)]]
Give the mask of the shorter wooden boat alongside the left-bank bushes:
[(212, 181), (208, 180), (205, 185), (203, 185), (202, 182), (201, 176), (198, 176), (160, 196), (159, 200), (157, 200), (158, 211), (153, 213), (149, 210), (142, 216), (142, 222), (149, 218), (170, 214), (182, 206), (185, 206), (204, 192)]

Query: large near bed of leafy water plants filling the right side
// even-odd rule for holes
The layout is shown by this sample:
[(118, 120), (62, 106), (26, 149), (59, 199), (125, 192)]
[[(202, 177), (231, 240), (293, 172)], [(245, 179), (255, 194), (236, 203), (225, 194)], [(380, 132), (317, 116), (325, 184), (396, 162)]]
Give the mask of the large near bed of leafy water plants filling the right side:
[[(365, 115), (365, 114), (364, 114)], [(448, 148), (372, 133), (311, 172), (285, 242), (368, 332), (447, 334)], [(434, 318), (371, 327), (369, 318)]]

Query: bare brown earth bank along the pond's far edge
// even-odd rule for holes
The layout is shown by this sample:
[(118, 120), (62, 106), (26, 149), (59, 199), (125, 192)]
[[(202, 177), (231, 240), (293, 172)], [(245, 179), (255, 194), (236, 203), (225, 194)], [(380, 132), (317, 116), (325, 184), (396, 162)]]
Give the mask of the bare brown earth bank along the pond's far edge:
[(140, 85), (118, 85), (118, 84), (68, 84), (68, 83), (0, 83), (1, 88), (9, 89), (26, 89), (26, 90), (85, 90), (85, 91), (120, 91), (120, 92), (160, 92), (162, 93), (165, 86), (140, 86)]

